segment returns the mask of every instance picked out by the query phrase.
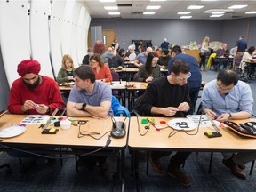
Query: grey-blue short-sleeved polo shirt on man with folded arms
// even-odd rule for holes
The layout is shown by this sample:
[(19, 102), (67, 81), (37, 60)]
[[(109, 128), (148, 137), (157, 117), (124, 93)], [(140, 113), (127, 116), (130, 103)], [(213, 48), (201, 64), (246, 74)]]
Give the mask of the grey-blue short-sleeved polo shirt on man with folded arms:
[[(108, 84), (96, 81), (92, 93), (85, 90), (77, 90), (76, 85), (73, 86), (68, 101), (75, 103), (87, 103), (91, 106), (100, 106), (101, 102), (112, 102), (112, 90)], [(113, 116), (112, 108), (108, 111), (108, 116)]]

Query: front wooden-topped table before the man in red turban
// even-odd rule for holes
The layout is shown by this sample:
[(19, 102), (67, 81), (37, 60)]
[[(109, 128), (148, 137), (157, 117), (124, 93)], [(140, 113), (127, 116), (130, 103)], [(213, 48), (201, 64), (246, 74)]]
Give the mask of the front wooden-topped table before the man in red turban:
[[(0, 118), (0, 129), (11, 127), (13, 124), (20, 124), (20, 122), (26, 117), (27, 115), (10, 115), (5, 114)], [(60, 117), (60, 116), (54, 116)], [(66, 117), (66, 116), (62, 116)], [(125, 164), (125, 157), (124, 157), (124, 149), (126, 148), (127, 143), (127, 132), (129, 127), (129, 118), (124, 117), (114, 117), (114, 121), (122, 121), (124, 122), (125, 119), (125, 129), (126, 135), (124, 138), (115, 139), (111, 137), (111, 142), (109, 146), (105, 149), (107, 150), (116, 150), (118, 152), (117, 162), (118, 167), (117, 170), (119, 171), (119, 177), (122, 181), (122, 190), (124, 191), (124, 164)], [(90, 136), (84, 136), (78, 138), (79, 133), (79, 125), (71, 125), (71, 128), (68, 130), (63, 130), (59, 127), (59, 132), (56, 134), (42, 134), (42, 128), (38, 128), (38, 124), (27, 124), (25, 126), (26, 132), (23, 132), (19, 136), (12, 137), (12, 138), (0, 138), (2, 147), (8, 146), (15, 148), (15, 146), (33, 146), (33, 147), (42, 147), (42, 148), (81, 148), (81, 149), (90, 149), (95, 150), (99, 148), (103, 148), (107, 144), (108, 135), (112, 130), (112, 119), (109, 117), (108, 119), (95, 119), (92, 117), (76, 117), (72, 118), (72, 121), (77, 124), (77, 121), (80, 120), (88, 120), (88, 122), (84, 125), (81, 125), (81, 131), (88, 131), (88, 132), (100, 132), (100, 135), (93, 135), (95, 137), (100, 138), (104, 135), (100, 140), (95, 140)], [(50, 124), (48, 128), (54, 128), (53, 124)], [(1, 148), (6, 150), (6, 148)], [(8, 149), (8, 148), (7, 148)], [(48, 149), (47, 149), (48, 150)], [(58, 151), (45, 151), (48, 153), (57, 153)], [(41, 151), (41, 150), (40, 150)], [(37, 151), (38, 152), (38, 151)], [(102, 151), (104, 152), (104, 151)], [(76, 150), (60, 150), (60, 154), (76, 154)], [(81, 154), (81, 151), (79, 152)], [(120, 156), (120, 159), (119, 159)], [(74, 156), (75, 158), (75, 156)]]

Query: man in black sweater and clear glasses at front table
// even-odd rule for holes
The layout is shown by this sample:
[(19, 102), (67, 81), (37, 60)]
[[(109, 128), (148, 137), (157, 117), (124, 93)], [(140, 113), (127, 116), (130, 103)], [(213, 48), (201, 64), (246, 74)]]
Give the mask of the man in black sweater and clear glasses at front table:
[[(141, 99), (143, 116), (168, 116), (184, 117), (188, 115), (190, 108), (188, 78), (190, 74), (188, 64), (182, 60), (175, 60), (171, 74), (162, 76), (153, 81), (146, 89)], [(160, 162), (160, 158), (169, 156), (172, 151), (151, 151), (149, 162), (152, 168), (159, 174), (165, 174), (166, 169)], [(177, 178), (183, 185), (191, 185), (191, 182), (181, 170), (190, 151), (179, 151), (171, 157), (167, 173)]]

